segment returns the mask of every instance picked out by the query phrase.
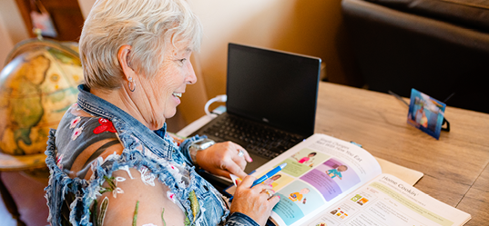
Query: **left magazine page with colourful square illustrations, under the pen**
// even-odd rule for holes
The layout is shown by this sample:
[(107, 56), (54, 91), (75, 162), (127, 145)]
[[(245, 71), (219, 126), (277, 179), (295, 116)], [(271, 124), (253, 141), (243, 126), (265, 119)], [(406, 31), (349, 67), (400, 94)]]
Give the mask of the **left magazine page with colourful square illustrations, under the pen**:
[(284, 162), (287, 166), (265, 181), (280, 196), (270, 218), (283, 226), (301, 225), (382, 173), (372, 154), (359, 146), (314, 134), (252, 175), (260, 178)]

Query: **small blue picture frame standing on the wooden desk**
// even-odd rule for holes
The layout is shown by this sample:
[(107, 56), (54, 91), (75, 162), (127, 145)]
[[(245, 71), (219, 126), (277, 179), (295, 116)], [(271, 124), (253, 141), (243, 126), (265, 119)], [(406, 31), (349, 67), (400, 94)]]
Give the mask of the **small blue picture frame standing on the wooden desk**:
[(445, 108), (445, 103), (412, 89), (407, 123), (439, 140)]

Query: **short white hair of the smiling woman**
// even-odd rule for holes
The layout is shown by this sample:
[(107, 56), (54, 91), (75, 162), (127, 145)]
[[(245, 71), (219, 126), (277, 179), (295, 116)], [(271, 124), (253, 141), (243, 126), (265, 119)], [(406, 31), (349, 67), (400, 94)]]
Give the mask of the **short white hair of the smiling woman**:
[(158, 73), (167, 43), (188, 42), (198, 51), (202, 25), (186, 0), (97, 0), (87, 16), (79, 50), (88, 87), (120, 88), (121, 46), (131, 45), (127, 63), (147, 78)]

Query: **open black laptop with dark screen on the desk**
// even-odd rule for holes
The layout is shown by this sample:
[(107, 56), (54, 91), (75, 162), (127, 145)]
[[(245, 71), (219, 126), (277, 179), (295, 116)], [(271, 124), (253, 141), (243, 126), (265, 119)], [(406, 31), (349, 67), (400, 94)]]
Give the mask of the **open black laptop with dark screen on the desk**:
[(192, 135), (238, 143), (253, 159), (251, 173), (314, 133), (321, 59), (228, 47), (227, 111)]

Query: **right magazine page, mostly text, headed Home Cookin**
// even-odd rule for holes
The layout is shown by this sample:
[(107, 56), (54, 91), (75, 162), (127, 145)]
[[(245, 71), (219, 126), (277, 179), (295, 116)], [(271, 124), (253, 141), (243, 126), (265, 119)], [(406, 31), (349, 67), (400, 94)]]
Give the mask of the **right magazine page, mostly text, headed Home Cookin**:
[(384, 173), (303, 225), (451, 226), (464, 225), (470, 218), (470, 214)]

